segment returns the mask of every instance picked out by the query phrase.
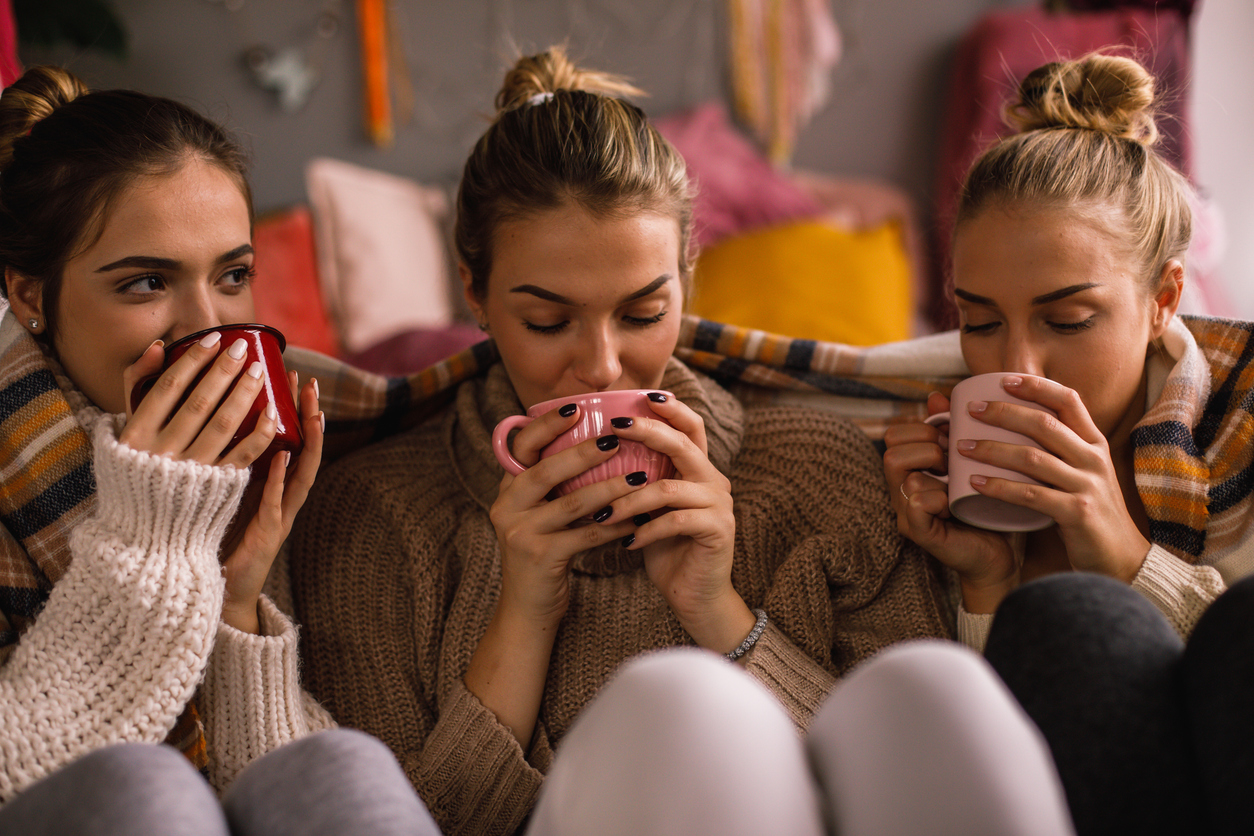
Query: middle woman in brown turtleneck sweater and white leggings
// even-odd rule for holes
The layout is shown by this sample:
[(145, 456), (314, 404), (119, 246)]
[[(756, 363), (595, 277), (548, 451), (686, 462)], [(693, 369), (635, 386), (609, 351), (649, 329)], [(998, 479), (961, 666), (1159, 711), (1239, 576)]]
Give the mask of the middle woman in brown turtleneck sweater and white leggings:
[[(825, 765), (811, 775), (796, 731), (836, 743), (833, 728), (869, 734), (863, 751), (879, 747), (880, 763), (853, 758), (854, 771), (902, 788), (900, 750), (877, 734), (904, 723), (927, 746), (956, 727), (909, 698), (928, 692), (912, 684), (920, 656), (939, 656), (933, 669), (969, 688), (959, 702), (982, 722), (984, 706), (1001, 712), (987, 726), (1004, 732), (998, 747), (1028, 753), (1002, 772), (1035, 776), (1035, 828), (1003, 817), (988, 832), (1065, 832), (1058, 795), (1040, 790), (1056, 786), (1043, 750), (974, 654), (954, 663), (948, 654), (964, 652), (942, 643), (889, 653), (838, 689), (849, 698), (828, 701), (882, 648), (948, 635), (944, 594), (898, 535), (878, 456), (851, 424), (744, 406), (671, 356), (691, 197), (682, 159), (619, 98), (632, 93), (559, 50), (507, 75), (465, 165), (456, 226), (466, 300), (502, 361), (434, 420), (320, 480), (291, 555), (308, 687), (393, 747), (449, 833), (512, 833), (529, 816), (532, 833), (818, 833), (820, 785), (844, 787), (838, 818), (856, 832), (845, 825), (865, 793), (836, 775), (848, 758), (811, 743)], [(503, 476), (500, 420), (622, 389), (653, 391), (656, 420), (618, 419), (613, 434), (540, 461), (578, 420), (572, 402), (518, 432), (513, 451), (534, 466)], [(677, 475), (547, 499), (617, 455), (619, 439), (671, 456)], [(602, 691), (632, 657), (682, 645)], [(898, 709), (937, 721), (874, 716), (885, 671)], [(870, 711), (851, 712), (855, 702)], [(962, 761), (949, 739), (935, 748), (943, 758), (915, 758), (933, 781)], [(997, 803), (964, 797), (967, 832), (981, 832), (971, 810)], [(914, 795), (877, 812), (894, 805), (934, 808)]]

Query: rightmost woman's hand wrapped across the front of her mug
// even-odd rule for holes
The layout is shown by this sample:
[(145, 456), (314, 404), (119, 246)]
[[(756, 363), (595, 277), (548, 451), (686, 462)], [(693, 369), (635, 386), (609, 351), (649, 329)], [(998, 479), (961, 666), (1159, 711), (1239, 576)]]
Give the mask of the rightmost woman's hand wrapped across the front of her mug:
[[(1014, 382), (1017, 381), (1017, 382)], [(1110, 445), (1080, 396), (1051, 380), (1007, 376), (1006, 391), (1046, 406), (1057, 417), (1016, 404), (989, 401), (972, 415), (986, 424), (1022, 432), (1045, 450), (997, 441), (976, 441), (962, 450), (976, 461), (1007, 468), (1047, 486), (988, 478), (972, 486), (981, 494), (1047, 514), (1073, 569), (1131, 583), (1150, 543), (1132, 520), (1111, 461)]]

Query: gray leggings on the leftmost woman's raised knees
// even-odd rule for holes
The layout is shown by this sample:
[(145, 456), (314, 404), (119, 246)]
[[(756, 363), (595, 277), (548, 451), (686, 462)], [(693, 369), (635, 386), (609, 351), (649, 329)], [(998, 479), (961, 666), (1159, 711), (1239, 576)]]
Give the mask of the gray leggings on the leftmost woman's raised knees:
[(351, 729), (312, 734), (248, 766), (221, 803), (168, 746), (98, 750), (0, 807), (0, 835), (342, 836), (439, 828), (387, 748)]

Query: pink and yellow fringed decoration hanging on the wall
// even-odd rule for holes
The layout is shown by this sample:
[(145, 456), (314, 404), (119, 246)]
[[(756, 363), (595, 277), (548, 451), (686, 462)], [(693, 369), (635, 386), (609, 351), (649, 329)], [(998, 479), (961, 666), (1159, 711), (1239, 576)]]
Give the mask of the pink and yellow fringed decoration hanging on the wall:
[(840, 60), (830, 0), (727, 0), (727, 20), (736, 115), (784, 165)]

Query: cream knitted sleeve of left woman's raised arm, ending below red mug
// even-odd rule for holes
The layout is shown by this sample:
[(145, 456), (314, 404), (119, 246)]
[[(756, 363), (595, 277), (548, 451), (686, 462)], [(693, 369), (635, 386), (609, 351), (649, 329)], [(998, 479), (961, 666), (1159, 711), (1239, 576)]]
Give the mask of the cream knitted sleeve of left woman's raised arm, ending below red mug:
[(158, 743), (218, 630), (218, 545), (248, 474), (133, 450), (93, 427), (95, 514), (0, 669), (0, 801), (109, 743)]

